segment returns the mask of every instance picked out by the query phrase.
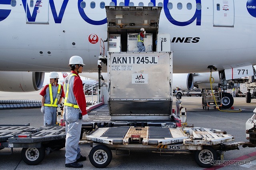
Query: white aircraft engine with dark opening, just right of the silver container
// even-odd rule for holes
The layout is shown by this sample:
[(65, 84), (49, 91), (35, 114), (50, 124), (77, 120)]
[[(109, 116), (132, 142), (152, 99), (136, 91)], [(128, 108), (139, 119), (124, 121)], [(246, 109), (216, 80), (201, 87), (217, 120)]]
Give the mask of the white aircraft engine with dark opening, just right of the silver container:
[(173, 74), (173, 89), (178, 86), (181, 90), (190, 90), (194, 87), (193, 74)]

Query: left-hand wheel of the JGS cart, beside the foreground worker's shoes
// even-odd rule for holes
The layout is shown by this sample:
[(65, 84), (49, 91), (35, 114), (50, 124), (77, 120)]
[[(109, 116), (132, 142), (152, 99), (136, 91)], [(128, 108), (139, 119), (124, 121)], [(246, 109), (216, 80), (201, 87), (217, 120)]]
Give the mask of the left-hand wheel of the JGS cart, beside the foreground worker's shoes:
[(90, 151), (89, 159), (96, 168), (105, 168), (112, 160), (112, 152), (107, 146), (98, 145)]

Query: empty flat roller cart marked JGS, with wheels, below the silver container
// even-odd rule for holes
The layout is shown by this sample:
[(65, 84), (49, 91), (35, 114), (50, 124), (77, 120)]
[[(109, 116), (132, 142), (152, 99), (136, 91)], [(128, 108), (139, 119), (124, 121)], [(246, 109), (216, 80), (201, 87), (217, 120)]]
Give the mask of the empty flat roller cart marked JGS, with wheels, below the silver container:
[(198, 128), (164, 128), (157, 126), (122, 126), (96, 128), (86, 135), (93, 141), (89, 158), (96, 168), (104, 168), (112, 159), (111, 149), (158, 149), (164, 152), (193, 151), (196, 163), (201, 167), (211, 167), (217, 157), (223, 159), (223, 151), (238, 149), (239, 142), (224, 144), (234, 140), (225, 131)]

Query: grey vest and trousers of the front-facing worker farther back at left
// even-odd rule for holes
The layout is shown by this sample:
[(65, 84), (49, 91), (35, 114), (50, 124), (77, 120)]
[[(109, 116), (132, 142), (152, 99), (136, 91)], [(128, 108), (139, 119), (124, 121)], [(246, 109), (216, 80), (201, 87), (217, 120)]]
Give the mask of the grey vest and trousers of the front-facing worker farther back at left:
[[(49, 84), (50, 86), (50, 84)], [(52, 98), (53, 101), (55, 101), (56, 96), (59, 98), (59, 96), (61, 95), (61, 90), (60, 89), (60, 94), (57, 96), (58, 93), (58, 86), (52, 86)], [(49, 87), (46, 88), (46, 95), (44, 95), (45, 97), (45, 101), (44, 104), (51, 104), (50, 101), (50, 90)], [(57, 101), (57, 104), (59, 102), (59, 99)], [(57, 107), (53, 107), (53, 106), (44, 106), (44, 125), (47, 124), (56, 124), (57, 121)]]

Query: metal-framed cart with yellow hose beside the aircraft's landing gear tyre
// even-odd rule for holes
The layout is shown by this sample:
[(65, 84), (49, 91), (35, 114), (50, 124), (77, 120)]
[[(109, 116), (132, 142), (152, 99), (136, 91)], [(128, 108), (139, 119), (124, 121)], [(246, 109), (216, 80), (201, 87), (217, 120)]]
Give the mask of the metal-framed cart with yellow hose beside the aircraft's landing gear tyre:
[[(214, 96), (213, 96), (214, 94)], [(220, 108), (222, 106), (220, 98), (221, 98), (221, 94), (218, 92), (218, 88), (203, 88), (202, 89), (202, 106), (203, 109), (206, 110), (206, 108), (209, 110), (210, 106), (213, 106), (214, 109), (216, 109), (216, 104), (218, 105), (218, 107)], [(214, 101), (214, 98), (216, 100), (216, 104)]]

